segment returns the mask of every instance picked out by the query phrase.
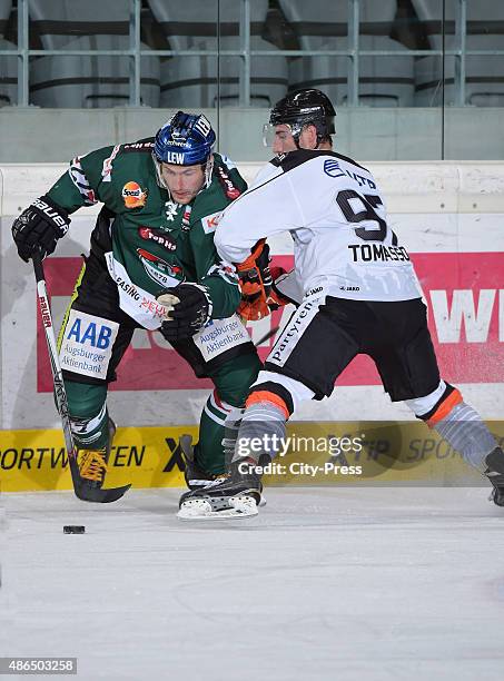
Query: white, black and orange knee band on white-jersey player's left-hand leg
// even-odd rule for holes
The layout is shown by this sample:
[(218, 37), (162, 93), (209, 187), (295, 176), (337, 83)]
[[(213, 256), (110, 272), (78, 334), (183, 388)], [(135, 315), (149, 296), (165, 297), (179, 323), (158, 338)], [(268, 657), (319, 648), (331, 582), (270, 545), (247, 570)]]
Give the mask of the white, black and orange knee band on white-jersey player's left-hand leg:
[(295, 378), (264, 371), (251, 386), (245, 405), (269, 403), (279, 408), (285, 418), (289, 418), (299, 402), (312, 399), (314, 395), (312, 389)]

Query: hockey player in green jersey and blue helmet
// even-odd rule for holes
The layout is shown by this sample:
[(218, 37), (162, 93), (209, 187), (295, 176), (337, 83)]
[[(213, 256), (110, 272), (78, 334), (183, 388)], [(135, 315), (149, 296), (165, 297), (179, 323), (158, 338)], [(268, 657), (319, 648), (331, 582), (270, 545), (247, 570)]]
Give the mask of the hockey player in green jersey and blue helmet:
[[(53, 253), (70, 214), (105, 205), (59, 335), (79, 468), (90, 486), (103, 483), (115, 432), (108, 383), (138, 327), (159, 329), (215, 385), (198, 444), (181, 441), (188, 484), (225, 470), (224, 422), (243, 405), (260, 362), (236, 314), (237, 276), (214, 246), (220, 211), (246, 189), (231, 161), (214, 152), (215, 139), (205, 116), (178, 111), (156, 138), (75, 158), (12, 226), (28, 261), (36, 250)], [(159, 406), (165, 421), (169, 405)]]

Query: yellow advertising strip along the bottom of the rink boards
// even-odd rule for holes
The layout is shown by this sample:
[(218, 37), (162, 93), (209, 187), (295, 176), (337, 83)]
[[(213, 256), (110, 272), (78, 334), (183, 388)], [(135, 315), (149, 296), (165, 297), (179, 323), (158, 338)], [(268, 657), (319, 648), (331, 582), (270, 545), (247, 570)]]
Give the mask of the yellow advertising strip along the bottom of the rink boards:
[[(501, 443), (504, 423), (488, 423)], [(197, 426), (118, 428), (106, 486), (184, 487), (179, 437)], [(1, 431), (0, 490), (71, 490), (61, 431)], [(254, 444), (254, 443), (250, 443)], [(260, 447), (263, 443), (257, 443)], [(480, 485), (482, 475), (422, 422), (291, 422), (265, 468), (275, 485)], [(244, 452), (245, 453), (245, 452)]]

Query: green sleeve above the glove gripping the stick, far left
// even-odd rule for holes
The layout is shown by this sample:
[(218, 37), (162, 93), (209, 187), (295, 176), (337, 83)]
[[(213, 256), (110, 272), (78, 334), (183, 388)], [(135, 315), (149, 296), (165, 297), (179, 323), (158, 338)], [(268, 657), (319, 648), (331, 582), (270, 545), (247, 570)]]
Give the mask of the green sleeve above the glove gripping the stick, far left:
[(93, 206), (102, 200), (101, 184), (110, 181), (111, 164), (119, 147), (102, 147), (86, 156), (77, 156), (49, 189), (48, 196), (59, 206), (75, 213), (82, 206)]

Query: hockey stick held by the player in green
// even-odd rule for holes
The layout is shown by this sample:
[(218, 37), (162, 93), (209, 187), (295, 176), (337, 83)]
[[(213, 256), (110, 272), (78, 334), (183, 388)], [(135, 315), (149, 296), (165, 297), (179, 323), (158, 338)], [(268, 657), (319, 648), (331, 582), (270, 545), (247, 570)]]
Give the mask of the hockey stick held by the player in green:
[(67, 392), (65, 389), (63, 375), (59, 363), (58, 348), (55, 337), (55, 328), (52, 326), (51, 308), (49, 307), (49, 297), (47, 295), (46, 278), (43, 275), (42, 258), (40, 253), (36, 251), (32, 256), (34, 278), (37, 279), (37, 296), (39, 299), (40, 315), (42, 317), (43, 330), (46, 333), (47, 348), (51, 363), (52, 383), (55, 386), (56, 406), (61, 417), (63, 427), (65, 446), (67, 448), (68, 463), (70, 466), (73, 492), (81, 501), (97, 502), (107, 504), (120, 499), (131, 485), (123, 487), (115, 487), (111, 490), (101, 490), (100, 487), (91, 487), (89, 481), (80, 475), (77, 464), (77, 447), (73, 442), (73, 436), (70, 427), (70, 415), (68, 413)]

